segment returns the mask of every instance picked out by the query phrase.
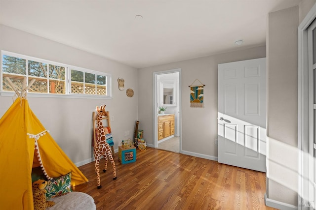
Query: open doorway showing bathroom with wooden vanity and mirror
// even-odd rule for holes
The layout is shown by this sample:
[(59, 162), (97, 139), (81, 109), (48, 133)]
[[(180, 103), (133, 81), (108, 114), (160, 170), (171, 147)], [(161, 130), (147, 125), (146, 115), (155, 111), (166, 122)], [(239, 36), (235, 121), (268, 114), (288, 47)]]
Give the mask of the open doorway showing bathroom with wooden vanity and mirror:
[[(181, 69), (154, 72), (155, 148), (181, 152)], [(160, 108), (165, 109), (160, 112)]]

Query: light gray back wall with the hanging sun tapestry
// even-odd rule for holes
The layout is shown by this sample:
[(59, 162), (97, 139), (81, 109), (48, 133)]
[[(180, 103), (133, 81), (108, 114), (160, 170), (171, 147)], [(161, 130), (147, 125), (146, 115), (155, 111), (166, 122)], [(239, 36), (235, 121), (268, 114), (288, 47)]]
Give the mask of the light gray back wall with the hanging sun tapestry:
[[(238, 48), (237, 48), (238, 49)], [(217, 65), (266, 57), (266, 47), (238, 50), (215, 56), (184, 60), (138, 71), (138, 119), (144, 130), (144, 139), (153, 142), (153, 73), (181, 68), (182, 76), (182, 150), (194, 156), (208, 159), (217, 158)], [(190, 88), (195, 79), (204, 85), (204, 108), (190, 107)]]

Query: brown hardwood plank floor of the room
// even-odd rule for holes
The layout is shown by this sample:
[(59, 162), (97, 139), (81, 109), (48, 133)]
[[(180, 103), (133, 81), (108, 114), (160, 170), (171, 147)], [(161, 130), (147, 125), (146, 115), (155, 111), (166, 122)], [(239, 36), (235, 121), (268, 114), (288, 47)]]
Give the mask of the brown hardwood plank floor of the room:
[(101, 189), (94, 162), (80, 166), (89, 182), (73, 190), (91, 195), (97, 210), (274, 210), (264, 203), (265, 173), (153, 148), (136, 152), (128, 164), (116, 154), (118, 179), (108, 164)]

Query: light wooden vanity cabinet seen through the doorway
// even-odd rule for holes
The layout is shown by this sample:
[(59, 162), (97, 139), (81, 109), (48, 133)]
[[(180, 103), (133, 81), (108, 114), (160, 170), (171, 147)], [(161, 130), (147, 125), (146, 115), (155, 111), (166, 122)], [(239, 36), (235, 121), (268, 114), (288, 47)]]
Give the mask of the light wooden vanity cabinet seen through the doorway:
[(174, 115), (158, 116), (158, 140), (174, 134)]

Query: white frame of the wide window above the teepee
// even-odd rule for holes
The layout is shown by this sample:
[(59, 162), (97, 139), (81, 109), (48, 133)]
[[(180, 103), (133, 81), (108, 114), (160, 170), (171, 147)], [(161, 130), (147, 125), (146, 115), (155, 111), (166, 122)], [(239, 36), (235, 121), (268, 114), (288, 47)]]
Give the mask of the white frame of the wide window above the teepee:
[[(1, 50), (1, 71), (0, 71), (0, 95), (1, 96), (13, 96), (15, 93), (13, 91), (3, 91), (2, 90), (2, 56), (12, 56), (16, 58), (33, 60), (37, 62), (43, 62), (47, 64), (53, 64), (58, 66), (63, 66), (66, 68), (65, 72), (65, 94), (54, 94), (54, 93), (39, 93), (39, 92), (28, 92), (28, 97), (52, 97), (52, 98), (86, 98), (86, 99), (112, 99), (112, 76), (109, 73), (104, 73), (100, 71), (94, 71), (91, 69), (86, 69), (78, 66), (68, 65), (64, 63), (59, 63), (50, 60), (43, 60), (31, 56), (26, 56), (22, 54), (12, 53), (8, 51)], [(106, 92), (107, 95), (96, 95), (96, 94), (81, 94), (81, 93), (71, 93), (71, 70), (83, 71), (86, 73), (97, 74), (106, 77)], [(26, 72), (28, 74), (28, 72)], [(28, 76), (28, 75), (27, 75)], [(28, 83), (28, 80), (27, 80)]]

